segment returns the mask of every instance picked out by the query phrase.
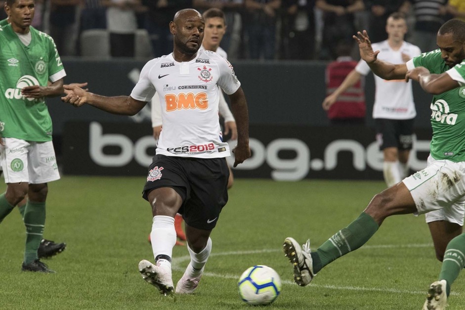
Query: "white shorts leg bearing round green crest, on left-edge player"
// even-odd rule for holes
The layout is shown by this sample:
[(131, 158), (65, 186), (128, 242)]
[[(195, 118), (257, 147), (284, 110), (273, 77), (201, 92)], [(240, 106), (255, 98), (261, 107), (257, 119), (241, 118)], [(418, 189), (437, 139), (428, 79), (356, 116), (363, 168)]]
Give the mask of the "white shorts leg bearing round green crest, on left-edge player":
[(16, 138), (2, 138), (0, 164), (5, 183), (29, 183), (28, 152), (30, 143)]

